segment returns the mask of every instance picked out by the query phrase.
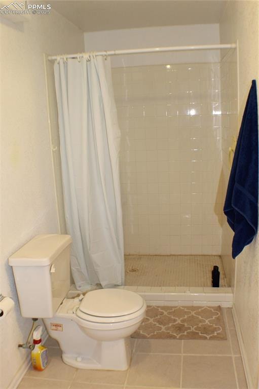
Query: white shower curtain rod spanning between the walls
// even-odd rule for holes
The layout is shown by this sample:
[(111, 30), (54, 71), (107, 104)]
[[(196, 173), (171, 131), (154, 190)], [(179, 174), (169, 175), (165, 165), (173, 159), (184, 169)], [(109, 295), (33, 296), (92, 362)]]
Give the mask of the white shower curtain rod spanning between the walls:
[[(96, 51), (95, 55), (124, 55), (124, 54), (141, 54), (141, 53), (162, 53), (166, 51), (188, 51), (188, 50), (216, 50), (216, 49), (235, 49), (237, 45), (235, 43), (222, 44), (222, 45), (198, 45), (198, 46), (172, 46), (172, 47), (154, 47), (146, 49), (129, 49), (129, 50), (108, 50), (108, 51)], [(65, 58), (80, 58), (89, 53), (68, 54), (60, 56), (50, 56), (50, 61), (57, 59), (58, 57)]]

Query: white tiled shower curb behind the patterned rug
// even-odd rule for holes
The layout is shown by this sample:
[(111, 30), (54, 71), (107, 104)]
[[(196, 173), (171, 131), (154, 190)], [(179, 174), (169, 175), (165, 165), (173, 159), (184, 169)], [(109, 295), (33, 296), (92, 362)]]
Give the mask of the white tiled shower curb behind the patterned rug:
[(233, 306), (232, 288), (118, 286), (142, 296), (147, 305)]

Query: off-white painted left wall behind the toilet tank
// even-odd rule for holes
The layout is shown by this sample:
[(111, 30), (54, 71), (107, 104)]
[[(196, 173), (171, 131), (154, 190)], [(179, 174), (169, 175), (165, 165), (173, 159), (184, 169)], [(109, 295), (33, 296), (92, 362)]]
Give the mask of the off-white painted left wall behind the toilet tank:
[(28, 356), (17, 344), (31, 321), (20, 316), (8, 257), (36, 234), (57, 232), (49, 141), (44, 53), (84, 50), (83, 32), (54, 10), (19, 27), (1, 28), (1, 291), (15, 309), (0, 322), (1, 389)]

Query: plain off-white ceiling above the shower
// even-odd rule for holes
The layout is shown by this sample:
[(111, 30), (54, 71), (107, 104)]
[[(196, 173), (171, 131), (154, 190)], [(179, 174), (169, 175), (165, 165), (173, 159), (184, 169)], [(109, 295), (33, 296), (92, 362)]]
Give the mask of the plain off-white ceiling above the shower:
[(52, 0), (83, 31), (218, 23), (224, 0)]

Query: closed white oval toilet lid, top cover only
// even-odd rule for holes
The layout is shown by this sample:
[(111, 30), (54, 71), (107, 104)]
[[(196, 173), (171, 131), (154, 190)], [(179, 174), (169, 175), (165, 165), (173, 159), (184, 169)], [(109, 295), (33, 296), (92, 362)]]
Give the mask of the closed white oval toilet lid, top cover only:
[(97, 289), (88, 292), (80, 303), (81, 312), (104, 318), (130, 315), (143, 306), (143, 298), (124, 289)]

